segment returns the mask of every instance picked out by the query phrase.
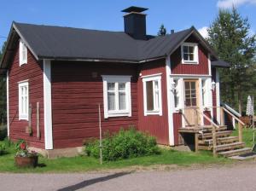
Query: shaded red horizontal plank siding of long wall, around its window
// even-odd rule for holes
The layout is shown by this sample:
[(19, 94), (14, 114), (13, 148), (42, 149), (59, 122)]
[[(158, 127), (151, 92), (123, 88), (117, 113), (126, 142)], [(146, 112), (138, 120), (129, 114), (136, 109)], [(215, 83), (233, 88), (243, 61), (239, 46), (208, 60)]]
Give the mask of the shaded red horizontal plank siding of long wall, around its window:
[[(52, 61), (52, 115), (54, 148), (83, 145), (99, 137), (98, 103), (103, 134), (121, 127), (137, 127), (137, 66), (121, 63)], [(102, 75), (131, 76), (131, 117), (104, 119)]]

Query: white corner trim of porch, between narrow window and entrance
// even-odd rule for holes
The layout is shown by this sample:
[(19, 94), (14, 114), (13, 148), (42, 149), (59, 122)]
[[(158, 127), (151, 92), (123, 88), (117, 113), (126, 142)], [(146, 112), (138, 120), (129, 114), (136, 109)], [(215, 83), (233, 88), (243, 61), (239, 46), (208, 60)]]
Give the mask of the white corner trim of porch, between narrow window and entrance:
[(168, 116), (168, 131), (169, 131), (169, 145), (174, 146), (174, 124), (173, 112), (174, 108), (174, 95), (171, 92), (171, 56), (166, 57), (166, 92), (167, 92), (167, 116)]

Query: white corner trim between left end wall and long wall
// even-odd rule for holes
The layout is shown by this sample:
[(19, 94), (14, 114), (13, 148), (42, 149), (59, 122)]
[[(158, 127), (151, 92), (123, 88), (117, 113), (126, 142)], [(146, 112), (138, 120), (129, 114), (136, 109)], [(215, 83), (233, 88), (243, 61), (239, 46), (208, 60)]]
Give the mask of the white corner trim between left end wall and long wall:
[(44, 60), (44, 144), (45, 149), (53, 149), (52, 109), (51, 109), (51, 67)]

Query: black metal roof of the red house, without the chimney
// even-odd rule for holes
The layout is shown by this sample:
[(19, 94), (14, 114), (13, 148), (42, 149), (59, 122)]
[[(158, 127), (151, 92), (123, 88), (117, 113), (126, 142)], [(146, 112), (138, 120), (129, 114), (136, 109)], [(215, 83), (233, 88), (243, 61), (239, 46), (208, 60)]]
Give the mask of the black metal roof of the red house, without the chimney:
[[(125, 32), (96, 31), (62, 26), (43, 26), (14, 22), (9, 34), (7, 52), (0, 63), (1, 68), (9, 65), (11, 51), (14, 51), (18, 37), (25, 41), (32, 54), (38, 59), (55, 60), (111, 60), (139, 62), (166, 57), (189, 38), (199, 32), (192, 26), (187, 30), (148, 40), (131, 38)], [(12, 38), (14, 36), (15, 38)], [(201, 38), (201, 43), (217, 60), (214, 51)], [(221, 65), (218, 62), (218, 66)], [(221, 67), (221, 66), (220, 66)], [(224, 67), (224, 66), (223, 66)]]

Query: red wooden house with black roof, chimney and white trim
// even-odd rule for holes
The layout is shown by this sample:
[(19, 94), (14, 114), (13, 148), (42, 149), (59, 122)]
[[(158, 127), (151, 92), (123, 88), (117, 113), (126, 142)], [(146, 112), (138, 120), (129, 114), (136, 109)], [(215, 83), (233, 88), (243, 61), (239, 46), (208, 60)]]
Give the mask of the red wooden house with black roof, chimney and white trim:
[[(13, 22), (1, 61), (7, 73), (8, 133), (45, 151), (77, 148), (103, 131), (134, 125), (163, 145), (179, 128), (219, 121), (219, 61), (191, 27), (163, 37), (146, 33), (146, 9), (125, 12), (125, 32)], [(183, 118), (182, 116), (186, 116)]]

